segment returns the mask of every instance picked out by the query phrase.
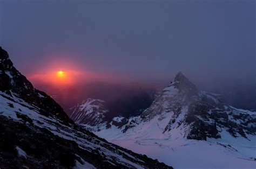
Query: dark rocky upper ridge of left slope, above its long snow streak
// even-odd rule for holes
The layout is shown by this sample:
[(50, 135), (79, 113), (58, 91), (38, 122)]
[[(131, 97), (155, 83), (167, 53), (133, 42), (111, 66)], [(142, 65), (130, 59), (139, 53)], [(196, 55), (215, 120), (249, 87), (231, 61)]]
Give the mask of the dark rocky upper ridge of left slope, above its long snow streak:
[(25, 102), (41, 108), (41, 112), (44, 112), (44, 114), (49, 116), (58, 115), (72, 122), (60, 105), (43, 91), (35, 89), (31, 82), (14, 67), (9, 54), (2, 47), (0, 48), (0, 91), (9, 95), (15, 93), (17, 97), (22, 98)]

